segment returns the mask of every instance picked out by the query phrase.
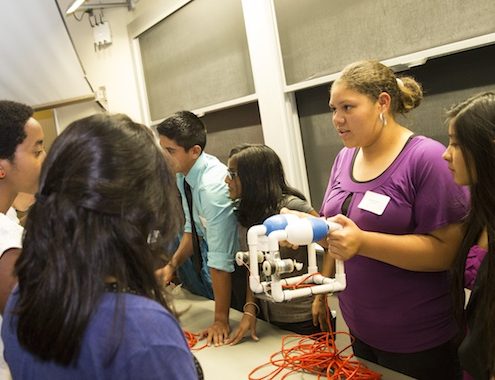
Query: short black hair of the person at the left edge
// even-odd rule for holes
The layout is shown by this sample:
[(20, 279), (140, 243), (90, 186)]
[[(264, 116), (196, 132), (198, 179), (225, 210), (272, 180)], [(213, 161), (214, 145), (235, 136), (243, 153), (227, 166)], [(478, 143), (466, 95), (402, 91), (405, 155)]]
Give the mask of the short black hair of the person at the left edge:
[(24, 126), (33, 116), (33, 109), (22, 103), (0, 100), (0, 159), (14, 159), (17, 145), (26, 138)]

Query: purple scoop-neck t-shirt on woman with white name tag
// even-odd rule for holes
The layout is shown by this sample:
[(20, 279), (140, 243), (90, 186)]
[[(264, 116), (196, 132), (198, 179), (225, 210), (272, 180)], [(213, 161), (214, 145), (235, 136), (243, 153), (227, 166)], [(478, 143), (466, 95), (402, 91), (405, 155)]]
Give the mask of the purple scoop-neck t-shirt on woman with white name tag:
[[(335, 159), (320, 213), (343, 213), (361, 229), (388, 234), (426, 234), (466, 215), (468, 194), (452, 179), (442, 144), (414, 136), (377, 178), (357, 182), (352, 167), (357, 149)], [(357, 206), (366, 191), (390, 197), (382, 215)], [(390, 352), (417, 352), (451, 339), (456, 324), (447, 272), (414, 272), (357, 255), (346, 261), (347, 288), (340, 308), (353, 334)]]

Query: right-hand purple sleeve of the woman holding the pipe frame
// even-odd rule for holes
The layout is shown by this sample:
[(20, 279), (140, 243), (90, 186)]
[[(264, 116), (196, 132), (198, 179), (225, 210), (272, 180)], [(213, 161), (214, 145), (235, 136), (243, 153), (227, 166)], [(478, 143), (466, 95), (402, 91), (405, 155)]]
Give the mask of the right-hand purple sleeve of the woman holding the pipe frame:
[(442, 158), (445, 148), (431, 139), (419, 144), (411, 155), (415, 233), (425, 234), (450, 223), (459, 222), (468, 212), (468, 192), (455, 184)]

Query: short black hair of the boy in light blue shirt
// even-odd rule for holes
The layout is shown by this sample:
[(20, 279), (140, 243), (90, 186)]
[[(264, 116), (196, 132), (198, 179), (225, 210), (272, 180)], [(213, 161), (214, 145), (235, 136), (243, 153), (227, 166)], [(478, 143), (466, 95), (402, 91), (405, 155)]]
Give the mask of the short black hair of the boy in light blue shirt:
[(160, 135), (174, 140), (186, 151), (194, 145), (199, 145), (202, 151), (205, 150), (206, 127), (192, 112), (177, 112), (158, 124), (156, 130)]

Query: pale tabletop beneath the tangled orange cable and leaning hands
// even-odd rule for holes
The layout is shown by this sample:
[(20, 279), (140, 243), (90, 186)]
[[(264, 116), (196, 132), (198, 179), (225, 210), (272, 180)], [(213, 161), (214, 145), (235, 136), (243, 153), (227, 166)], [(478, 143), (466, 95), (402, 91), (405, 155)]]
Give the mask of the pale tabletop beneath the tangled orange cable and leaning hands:
[[(179, 313), (182, 327), (191, 333), (197, 333), (208, 327), (213, 319), (214, 302), (212, 300), (191, 294), (187, 290), (177, 287), (172, 291), (173, 302)], [(230, 325), (234, 329), (242, 317), (237, 310), (230, 310)], [(265, 321), (259, 320), (256, 325), (257, 335), (260, 338), (254, 342), (251, 338), (244, 338), (235, 346), (205, 347), (194, 350), (193, 353), (201, 363), (206, 380), (247, 379), (249, 373), (256, 367), (269, 361), (270, 356), (282, 348), (282, 337), (289, 334)], [(197, 343), (197, 347), (204, 345), (204, 341)], [(341, 347), (339, 347), (341, 348)], [(383, 380), (405, 380), (408, 376), (383, 368), (377, 364), (360, 360), (366, 366), (382, 374)], [(262, 377), (275, 369), (274, 366), (257, 372), (256, 377)], [(287, 373), (287, 372), (285, 372)], [(281, 378), (279, 375), (277, 378)], [(297, 372), (288, 379), (316, 379), (316, 375)]]

